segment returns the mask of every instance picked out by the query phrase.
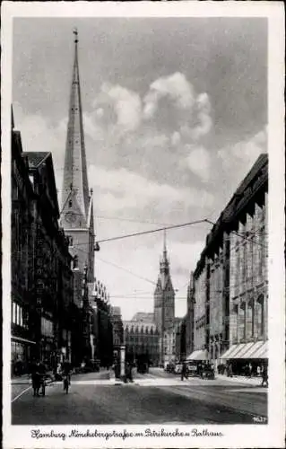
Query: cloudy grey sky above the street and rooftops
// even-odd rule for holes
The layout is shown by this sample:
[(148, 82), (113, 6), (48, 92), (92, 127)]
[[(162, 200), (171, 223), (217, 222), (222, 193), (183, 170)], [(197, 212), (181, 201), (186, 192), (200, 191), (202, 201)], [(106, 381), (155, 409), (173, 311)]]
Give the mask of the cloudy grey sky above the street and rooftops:
[[(97, 238), (215, 221), (266, 151), (266, 19), (14, 19), (15, 125), (25, 151), (52, 152), (59, 198), (74, 26)], [(177, 316), (209, 230), (167, 233)], [(96, 253), (124, 319), (152, 312), (162, 244), (152, 233)]]

